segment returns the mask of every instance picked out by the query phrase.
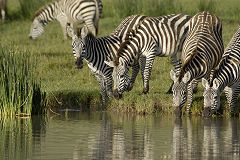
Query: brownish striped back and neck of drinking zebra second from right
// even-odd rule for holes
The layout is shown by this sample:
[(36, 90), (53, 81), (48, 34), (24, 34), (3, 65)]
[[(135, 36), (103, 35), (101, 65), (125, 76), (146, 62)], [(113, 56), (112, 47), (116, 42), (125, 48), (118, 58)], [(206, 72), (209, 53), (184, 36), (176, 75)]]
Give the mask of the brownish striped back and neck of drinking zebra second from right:
[(196, 14), (189, 24), (189, 33), (183, 46), (183, 67), (179, 81), (187, 71), (197, 79), (209, 74), (223, 54), (222, 23), (209, 13)]

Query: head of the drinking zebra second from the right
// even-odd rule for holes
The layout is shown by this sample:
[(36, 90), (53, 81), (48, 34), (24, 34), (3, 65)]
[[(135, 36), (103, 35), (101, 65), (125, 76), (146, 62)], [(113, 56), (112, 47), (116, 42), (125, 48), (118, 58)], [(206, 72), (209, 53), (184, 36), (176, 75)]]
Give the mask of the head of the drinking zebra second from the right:
[(180, 78), (176, 75), (175, 71), (171, 70), (170, 76), (174, 82), (172, 86), (174, 112), (180, 117), (182, 115), (181, 109), (187, 100), (188, 84), (191, 79), (191, 74), (188, 71)]

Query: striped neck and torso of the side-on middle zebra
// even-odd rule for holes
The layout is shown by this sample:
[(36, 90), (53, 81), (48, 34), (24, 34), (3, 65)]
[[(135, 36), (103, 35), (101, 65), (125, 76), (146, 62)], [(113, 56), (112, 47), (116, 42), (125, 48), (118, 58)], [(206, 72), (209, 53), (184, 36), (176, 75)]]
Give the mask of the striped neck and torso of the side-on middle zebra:
[(190, 16), (184, 14), (145, 17), (135, 30), (129, 31), (132, 36), (126, 37), (121, 43), (115, 64), (118, 64), (119, 58), (123, 56), (134, 60), (144, 50), (150, 49), (148, 48), (151, 47), (150, 43), (157, 45), (155, 55), (158, 56), (172, 56), (181, 51), (188, 32), (189, 19)]

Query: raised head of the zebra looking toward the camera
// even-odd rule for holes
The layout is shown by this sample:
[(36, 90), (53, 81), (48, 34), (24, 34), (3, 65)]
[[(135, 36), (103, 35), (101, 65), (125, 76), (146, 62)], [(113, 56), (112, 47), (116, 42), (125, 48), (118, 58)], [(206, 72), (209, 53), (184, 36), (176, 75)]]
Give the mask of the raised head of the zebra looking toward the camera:
[[(83, 54), (85, 52), (85, 45), (82, 36), (79, 38), (78, 35), (75, 33), (74, 29), (67, 25), (67, 34), (72, 38), (72, 52), (76, 59), (76, 67), (78, 69), (83, 68)], [(81, 29), (83, 31), (83, 28)], [(81, 34), (82, 35), (82, 34)]]

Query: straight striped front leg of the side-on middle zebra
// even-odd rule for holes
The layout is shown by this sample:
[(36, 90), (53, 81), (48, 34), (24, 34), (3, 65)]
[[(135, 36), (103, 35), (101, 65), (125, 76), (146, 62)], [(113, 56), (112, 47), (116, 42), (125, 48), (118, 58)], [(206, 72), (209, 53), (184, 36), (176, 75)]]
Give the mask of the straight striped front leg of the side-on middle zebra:
[(143, 73), (143, 94), (147, 94), (149, 92), (149, 78), (151, 76), (152, 65), (155, 57), (146, 57), (146, 65)]

